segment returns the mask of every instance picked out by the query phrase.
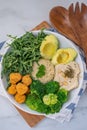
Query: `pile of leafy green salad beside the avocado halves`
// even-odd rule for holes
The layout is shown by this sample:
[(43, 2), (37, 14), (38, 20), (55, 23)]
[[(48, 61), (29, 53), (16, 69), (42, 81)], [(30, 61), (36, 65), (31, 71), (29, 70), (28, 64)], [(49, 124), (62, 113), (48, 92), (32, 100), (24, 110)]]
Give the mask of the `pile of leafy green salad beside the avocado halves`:
[(4, 55), (2, 74), (8, 76), (12, 72), (19, 72), (23, 75), (31, 73), (33, 62), (41, 58), (39, 48), (45, 36), (43, 31), (37, 36), (30, 32), (20, 38), (10, 36), (14, 41), (9, 45), (10, 51)]

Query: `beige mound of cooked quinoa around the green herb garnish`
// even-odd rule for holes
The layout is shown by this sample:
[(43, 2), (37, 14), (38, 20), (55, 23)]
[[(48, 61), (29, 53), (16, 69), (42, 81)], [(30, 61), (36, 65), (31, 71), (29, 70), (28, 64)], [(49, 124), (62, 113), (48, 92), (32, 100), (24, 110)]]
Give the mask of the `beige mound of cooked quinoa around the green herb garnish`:
[[(41, 78), (37, 78), (36, 74), (38, 72), (38, 64), (39, 65), (44, 65), (45, 66), (45, 75)], [(42, 83), (47, 83), (48, 81), (52, 80), (54, 78), (54, 65), (51, 63), (50, 60), (46, 59), (40, 59), (38, 61), (38, 64), (34, 62), (33, 64), (33, 71), (32, 71), (32, 77), (35, 80), (40, 80)]]

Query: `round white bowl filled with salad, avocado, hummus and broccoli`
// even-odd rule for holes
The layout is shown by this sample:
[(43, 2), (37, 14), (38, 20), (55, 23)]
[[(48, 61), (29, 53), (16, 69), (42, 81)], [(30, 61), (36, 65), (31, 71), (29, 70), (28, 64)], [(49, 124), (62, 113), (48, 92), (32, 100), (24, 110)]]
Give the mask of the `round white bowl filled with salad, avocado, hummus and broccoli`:
[(74, 43), (46, 30), (9, 37), (0, 63), (0, 83), (8, 99), (28, 113), (60, 112), (83, 83), (83, 64)]

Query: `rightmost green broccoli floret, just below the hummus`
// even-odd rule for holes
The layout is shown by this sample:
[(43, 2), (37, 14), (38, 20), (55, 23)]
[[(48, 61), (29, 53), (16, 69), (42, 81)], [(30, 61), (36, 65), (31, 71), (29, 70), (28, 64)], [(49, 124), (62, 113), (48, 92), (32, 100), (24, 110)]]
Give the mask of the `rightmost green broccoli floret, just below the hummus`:
[(58, 100), (63, 104), (68, 100), (68, 91), (64, 88), (59, 89), (58, 93)]

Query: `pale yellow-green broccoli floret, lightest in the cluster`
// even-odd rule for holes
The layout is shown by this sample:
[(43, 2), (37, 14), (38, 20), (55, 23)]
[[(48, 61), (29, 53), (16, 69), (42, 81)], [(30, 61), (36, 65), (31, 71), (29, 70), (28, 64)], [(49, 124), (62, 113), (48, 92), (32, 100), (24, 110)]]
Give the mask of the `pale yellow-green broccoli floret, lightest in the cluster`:
[(57, 95), (53, 93), (49, 93), (43, 97), (43, 102), (46, 105), (53, 105), (57, 103)]

